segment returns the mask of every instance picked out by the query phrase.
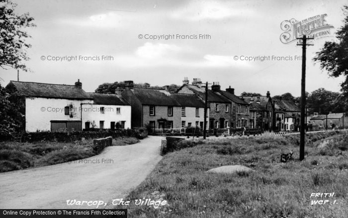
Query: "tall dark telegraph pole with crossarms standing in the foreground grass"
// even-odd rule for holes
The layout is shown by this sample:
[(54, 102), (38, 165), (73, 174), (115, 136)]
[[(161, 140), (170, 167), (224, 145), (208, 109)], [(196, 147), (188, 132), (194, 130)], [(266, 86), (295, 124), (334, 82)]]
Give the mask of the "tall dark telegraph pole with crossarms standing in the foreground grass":
[(304, 146), (305, 146), (305, 110), (306, 110), (306, 46), (313, 45), (307, 44), (306, 35), (303, 35), (301, 39), (302, 43), (297, 43), (297, 45), (302, 45), (302, 79), (301, 79), (301, 128), (300, 128), (300, 160), (304, 159)]

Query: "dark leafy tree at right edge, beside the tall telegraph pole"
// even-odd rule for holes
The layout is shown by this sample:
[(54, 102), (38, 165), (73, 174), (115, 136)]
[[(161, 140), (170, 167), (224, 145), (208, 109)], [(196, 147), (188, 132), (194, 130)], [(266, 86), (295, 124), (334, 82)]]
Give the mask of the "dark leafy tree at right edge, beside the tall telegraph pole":
[(320, 62), (320, 68), (327, 70), (332, 77), (346, 76), (346, 81), (341, 87), (348, 95), (348, 5), (344, 6), (343, 10), (347, 16), (344, 25), (336, 32), (338, 42), (325, 42), (313, 60)]

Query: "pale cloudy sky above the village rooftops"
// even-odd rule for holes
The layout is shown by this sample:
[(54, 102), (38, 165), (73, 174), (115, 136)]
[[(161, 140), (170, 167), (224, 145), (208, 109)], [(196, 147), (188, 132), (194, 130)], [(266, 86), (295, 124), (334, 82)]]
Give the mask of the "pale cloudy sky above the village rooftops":
[[(307, 47), (306, 91), (339, 92), (344, 80), (329, 77), (312, 58), (325, 41), (337, 40), (347, 0), (13, 1), (17, 13), (29, 12), (37, 25), (26, 28), (32, 47), (25, 64), (31, 72), (20, 71), (20, 81), (73, 85), (80, 79), (93, 92), (102, 83), (181, 85), (188, 77), (231, 86), (237, 95), (269, 91), (297, 97), (302, 49), (295, 41), (280, 41), (280, 25), (320, 14), (333, 27)], [(17, 80), (17, 70), (1, 69), (0, 78), (5, 86)]]

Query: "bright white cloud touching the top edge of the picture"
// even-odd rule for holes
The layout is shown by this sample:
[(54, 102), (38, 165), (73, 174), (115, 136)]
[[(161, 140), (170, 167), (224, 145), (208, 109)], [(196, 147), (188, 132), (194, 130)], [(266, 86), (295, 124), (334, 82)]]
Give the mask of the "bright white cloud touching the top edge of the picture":
[(252, 16), (248, 8), (236, 8), (234, 2), (194, 1), (172, 13), (175, 19), (197, 21), (202, 19), (221, 20), (235, 16)]

